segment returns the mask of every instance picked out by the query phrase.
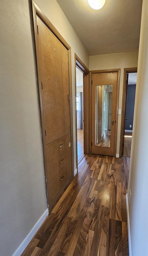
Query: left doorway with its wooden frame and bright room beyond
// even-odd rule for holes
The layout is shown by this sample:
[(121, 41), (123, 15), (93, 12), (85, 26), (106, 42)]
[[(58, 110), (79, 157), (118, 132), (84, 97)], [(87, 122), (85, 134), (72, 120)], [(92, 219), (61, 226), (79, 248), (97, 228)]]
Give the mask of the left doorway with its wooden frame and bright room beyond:
[[(89, 69), (75, 54), (76, 154), (78, 164), (89, 154)], [(87, 104), (86, 104), (87, 102)]]

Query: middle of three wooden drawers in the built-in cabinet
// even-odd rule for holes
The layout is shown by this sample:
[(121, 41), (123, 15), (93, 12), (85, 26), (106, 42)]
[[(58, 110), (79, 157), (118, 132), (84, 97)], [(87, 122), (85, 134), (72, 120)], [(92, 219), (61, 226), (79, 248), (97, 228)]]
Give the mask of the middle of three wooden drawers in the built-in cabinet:
[(56, 156), (47, 164), (47, 183), (50, 182), (71, 161), (71, 147)]

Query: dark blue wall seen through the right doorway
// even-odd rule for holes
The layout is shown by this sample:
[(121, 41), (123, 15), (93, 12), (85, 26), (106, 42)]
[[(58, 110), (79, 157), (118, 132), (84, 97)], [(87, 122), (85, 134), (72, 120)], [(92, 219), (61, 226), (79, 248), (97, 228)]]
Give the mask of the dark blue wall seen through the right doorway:
[[(136, 84), (128, 84), (125, 130), (133, 130)], [(130, 124), (132, 127), (130, 128)]]

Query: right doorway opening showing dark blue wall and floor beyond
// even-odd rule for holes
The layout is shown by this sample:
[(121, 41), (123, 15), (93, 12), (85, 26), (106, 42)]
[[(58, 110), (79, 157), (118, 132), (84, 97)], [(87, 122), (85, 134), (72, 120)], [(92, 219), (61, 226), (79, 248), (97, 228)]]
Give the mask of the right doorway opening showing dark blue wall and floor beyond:
[(137, 72), (126, 74), (122, 156), (131, 156)]

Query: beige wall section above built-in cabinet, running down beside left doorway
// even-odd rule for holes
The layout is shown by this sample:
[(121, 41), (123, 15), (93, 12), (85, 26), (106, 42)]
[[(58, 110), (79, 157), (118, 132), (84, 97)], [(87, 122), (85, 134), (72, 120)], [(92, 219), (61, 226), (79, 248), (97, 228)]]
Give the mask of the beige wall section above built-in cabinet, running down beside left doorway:
[(36, 4), (55, 26), (58, 32), (64, 37), (71, 47), (72, 64), (72, 98), (73, 98), (73, 141), (74, 141), (74, 168), (76, 169), (76, 107), (75, 107), (75, 77), (74, 77), (74, 53), (89, 68), (89, 55), (83, 47), (81, 41), (70, 25), (68, 19), (60, 8), (56, 0), (35, 0)]

